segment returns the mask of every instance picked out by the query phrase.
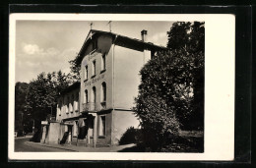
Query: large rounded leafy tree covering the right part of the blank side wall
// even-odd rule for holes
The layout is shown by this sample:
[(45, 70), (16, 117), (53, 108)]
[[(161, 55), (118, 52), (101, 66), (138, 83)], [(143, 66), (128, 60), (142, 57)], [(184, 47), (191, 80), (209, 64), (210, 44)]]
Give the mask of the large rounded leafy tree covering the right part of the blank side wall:
[(180, 50), (158, 53), (140, 71), (142, 84), (135, 111), (148, 145), (158, 147), (169, 136), (177, 135), (182, 120), (189, 117), (193, 102), (192, 69), (193, 56)]

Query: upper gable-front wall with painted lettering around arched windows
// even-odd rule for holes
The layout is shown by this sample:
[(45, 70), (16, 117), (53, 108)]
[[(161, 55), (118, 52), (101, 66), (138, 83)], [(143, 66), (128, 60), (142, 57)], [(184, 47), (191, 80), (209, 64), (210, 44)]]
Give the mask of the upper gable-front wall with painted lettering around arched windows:
[[(112, 50), (111, 38), (109, 36), (99, 36), (97, 39), (98, 50), (90, 56), (92, 47), (89, 47), (81, 63), (81, 105), (80, 112), (83, 111), (85, 102), (85, 90), (88, 90), (89, 102), (93, 102), (93, 87), (96, 86), (96, 109), (100, 110), (101, 84), (106, 84), (106, 108), (112, 108)], [(101, 56), (105, 55), (105, 72), (101, 71)], [(93, 61), (96, 61), (96, 77), (92, 79)], [(85, 66), (88, 66), (88, 80), (85, 81)]]

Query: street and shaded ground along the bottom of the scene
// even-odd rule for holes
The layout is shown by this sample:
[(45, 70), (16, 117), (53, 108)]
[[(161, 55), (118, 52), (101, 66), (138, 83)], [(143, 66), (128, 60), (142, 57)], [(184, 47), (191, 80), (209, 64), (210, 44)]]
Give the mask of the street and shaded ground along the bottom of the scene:
[[(125, 145), (114, 145), (106, 147), (87, 147), (72, 144), (45, 144), (29, 141), (31, 138), (16, 138), (16, 152), (145, 152), (150, 151), (147, 147), (135, 143)], [(172, 138), (170, 142), (160, 149), (160, 152), (204, 152), (204, 134), (198, 131), (180, 132), (178, 137)]]

